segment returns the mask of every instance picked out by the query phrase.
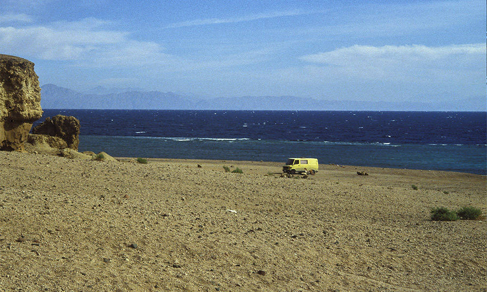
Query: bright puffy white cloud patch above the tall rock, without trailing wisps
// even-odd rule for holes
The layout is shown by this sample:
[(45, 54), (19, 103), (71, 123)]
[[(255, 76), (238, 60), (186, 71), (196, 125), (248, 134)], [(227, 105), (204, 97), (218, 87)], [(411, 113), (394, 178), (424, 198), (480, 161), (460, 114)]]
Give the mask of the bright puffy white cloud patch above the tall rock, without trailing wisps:
[[(111, 65), (135, 58), (129, 54), (137, 55), (139, 59), (162, 54), (155, 43), (134, 41), (127, 32), (104, 29), (109, 24), (108, 21), (85, 18), (39, 26), (0, 26), (0, 48), (4, 54), (27, 58)], [(122, 58), (124, 54), (125, 59)], [(117, 57), (120, 62), (113, 63)]]

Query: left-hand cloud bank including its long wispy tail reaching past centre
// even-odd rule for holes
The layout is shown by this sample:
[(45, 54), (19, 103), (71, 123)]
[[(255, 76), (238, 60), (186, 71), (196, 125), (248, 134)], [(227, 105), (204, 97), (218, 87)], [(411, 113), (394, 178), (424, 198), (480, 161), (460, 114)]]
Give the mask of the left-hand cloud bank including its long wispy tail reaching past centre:
[(144, 68), (157, 72), (228, 68), (261, 62), (272, 54), (256, 49), (189, 58), (168, 54), (157, 42), (134, 40), (128, 32), (111, 30), (111, 24), (84, 18), (37, 26), (0, 26), (0, 48), (3, 54), (69, 61), (82, 68)]

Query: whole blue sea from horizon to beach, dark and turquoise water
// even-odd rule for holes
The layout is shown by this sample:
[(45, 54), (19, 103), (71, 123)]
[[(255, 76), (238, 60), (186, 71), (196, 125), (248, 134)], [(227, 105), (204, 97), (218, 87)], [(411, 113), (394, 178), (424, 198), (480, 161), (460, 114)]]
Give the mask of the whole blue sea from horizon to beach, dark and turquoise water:
[(345, 164), (486, 175), (486, 112), (44, 110), (81, 123), (79, 151)]

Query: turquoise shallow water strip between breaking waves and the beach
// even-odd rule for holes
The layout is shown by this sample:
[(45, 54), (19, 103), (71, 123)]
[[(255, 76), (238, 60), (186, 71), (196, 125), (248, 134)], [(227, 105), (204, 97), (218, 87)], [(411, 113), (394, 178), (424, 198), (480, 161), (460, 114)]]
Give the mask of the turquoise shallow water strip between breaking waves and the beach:
[(485, 145), (422, 145), (221, 138), (81, 135), (79, 151), (112, 156), (284, 162), (316, 157), (320, 164), (459, 171), (486, 175)]

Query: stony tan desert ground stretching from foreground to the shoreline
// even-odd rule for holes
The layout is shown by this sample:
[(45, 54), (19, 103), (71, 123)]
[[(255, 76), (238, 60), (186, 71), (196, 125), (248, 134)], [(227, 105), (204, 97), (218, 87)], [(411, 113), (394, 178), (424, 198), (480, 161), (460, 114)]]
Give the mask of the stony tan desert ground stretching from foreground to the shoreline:
[(0, 170), (2, 292), (486, 291), (485, 220), (430, 220), (485, 214), (485, 176), (19, 152)]

